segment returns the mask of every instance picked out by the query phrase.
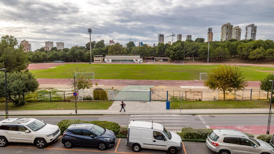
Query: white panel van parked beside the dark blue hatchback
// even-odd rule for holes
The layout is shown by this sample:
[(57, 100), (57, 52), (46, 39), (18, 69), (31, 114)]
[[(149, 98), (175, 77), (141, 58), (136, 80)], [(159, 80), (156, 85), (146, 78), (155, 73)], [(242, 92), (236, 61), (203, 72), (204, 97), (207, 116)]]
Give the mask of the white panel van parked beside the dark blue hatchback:
[(182, 139), (176, 133), (167, 131), (162, 124), (131, 121), (126, 146), (132, 147), (134, 152), (148, 148), (168, 150), (170, 154), (175, 154), (182, 150)]

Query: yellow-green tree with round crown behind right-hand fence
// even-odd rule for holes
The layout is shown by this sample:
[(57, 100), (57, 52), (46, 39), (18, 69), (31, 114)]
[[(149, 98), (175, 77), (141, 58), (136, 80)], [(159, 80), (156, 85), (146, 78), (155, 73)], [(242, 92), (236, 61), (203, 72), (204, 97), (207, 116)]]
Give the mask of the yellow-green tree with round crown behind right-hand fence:
[(204, 81), (204, 86), (211, 90), (223, 91), (224, 100), (225, 92), (238, 91), (248, 86), (248, 83), (244, 81), (243, 71), (239, 67), (230, 65), (220, 65), (217, 68), (213, 68), (208, 73), (208, 78)]

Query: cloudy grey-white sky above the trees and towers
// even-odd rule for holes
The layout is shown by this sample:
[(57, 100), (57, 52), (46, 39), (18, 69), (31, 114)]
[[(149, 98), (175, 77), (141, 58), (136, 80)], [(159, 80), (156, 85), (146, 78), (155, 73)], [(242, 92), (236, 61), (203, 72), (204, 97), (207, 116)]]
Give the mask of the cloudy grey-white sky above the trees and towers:
[(45, 41), (84, 46), (89, 42), (87, 28), (92, 28), (92, 41), (114, 40), (125, 45), (131, 39), (136, 46), (158, 44), (159, 33), (164, 43), (172, 32), (207, 40), (207, 28), (213, 28), (213, 40), (220, 40), (221, 26), (227, 22), (242, 29), (257, 26), (256, 40), (274, 40), (273, 0), (0, 0), (0, 36), (13, 35), (26, 39), (32, 51), (45, 46)]

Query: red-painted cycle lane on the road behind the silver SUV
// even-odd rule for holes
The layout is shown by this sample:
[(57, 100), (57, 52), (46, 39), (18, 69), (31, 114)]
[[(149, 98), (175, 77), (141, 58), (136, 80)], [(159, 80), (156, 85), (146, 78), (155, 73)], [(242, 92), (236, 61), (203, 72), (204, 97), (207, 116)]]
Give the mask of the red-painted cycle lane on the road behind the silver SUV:
[[(236, 129), (244, 133), (251, 133), (251, 134), (266, 134), (267, 132), (267, 125), (248, 125), (248, 126), (209, 126), (212, 129)], [(274, 133), (274, 126), (270, 126), (270, 134)]]

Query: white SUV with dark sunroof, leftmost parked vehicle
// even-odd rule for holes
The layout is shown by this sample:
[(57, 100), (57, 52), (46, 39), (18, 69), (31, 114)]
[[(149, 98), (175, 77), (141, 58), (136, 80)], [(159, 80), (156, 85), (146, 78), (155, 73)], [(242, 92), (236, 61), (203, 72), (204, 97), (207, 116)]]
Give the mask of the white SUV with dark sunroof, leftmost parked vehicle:
[(44, 148), (59, 135), (58, 126), (34, 118), (9, 118), (0, 122), (0, 147), (7, 146), (9, 142), (21, 142)]

